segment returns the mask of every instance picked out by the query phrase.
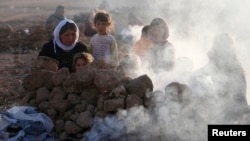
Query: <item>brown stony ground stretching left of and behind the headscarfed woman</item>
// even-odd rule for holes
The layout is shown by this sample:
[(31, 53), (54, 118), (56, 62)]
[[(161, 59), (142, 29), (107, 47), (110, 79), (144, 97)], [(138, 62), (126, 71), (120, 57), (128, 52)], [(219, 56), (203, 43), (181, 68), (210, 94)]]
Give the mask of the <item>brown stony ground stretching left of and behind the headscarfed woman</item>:
[[(37, 57), (42, 45), (48, 41), (44, 23), (49, 14), (54, 12), (58, 4), (65, 5), (65, 16), (75, 19), (78, 23), (80, 41), (88, 43), (88, 38), (83, 34), (83, 20), (86, 14), (91, 13), (93, 7), (98, 7), (100, 2), (75, 1), (74, 3), (61, 0), (25, 0), (17, 2), (6, 0), (0, 2), (0, 110), (3, 111), (17, 104), (23, 94), (23, 78), (30, 73), (32, 61)], [(121, 26), (126, 25), (124, 11), (133, 9), (127, 7), (120, 13), (112, 11), (114, 20)], [(118, 22), (116, 22), (117, 24)]]

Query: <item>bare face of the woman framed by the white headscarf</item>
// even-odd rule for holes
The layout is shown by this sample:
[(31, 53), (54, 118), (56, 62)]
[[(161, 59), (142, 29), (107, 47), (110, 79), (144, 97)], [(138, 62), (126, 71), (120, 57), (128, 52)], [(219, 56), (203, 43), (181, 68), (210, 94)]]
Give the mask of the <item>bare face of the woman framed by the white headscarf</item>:
[(66, 46), (71, 46), (76, 40), (76, 31), (67, 30), (60, 35), (61, 42)]

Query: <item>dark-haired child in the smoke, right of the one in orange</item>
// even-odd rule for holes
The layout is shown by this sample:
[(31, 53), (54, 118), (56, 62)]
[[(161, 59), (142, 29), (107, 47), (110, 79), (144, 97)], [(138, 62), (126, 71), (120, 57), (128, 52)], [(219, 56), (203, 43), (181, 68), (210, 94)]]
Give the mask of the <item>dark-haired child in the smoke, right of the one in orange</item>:
[(153, 19), (150, 23), (149, 36), (154, 44), (146, 56), (150, 67), (155, 72), (171, 70), (174, 67), (175, 50), (168, 41), (167, 23), (162, 18)]

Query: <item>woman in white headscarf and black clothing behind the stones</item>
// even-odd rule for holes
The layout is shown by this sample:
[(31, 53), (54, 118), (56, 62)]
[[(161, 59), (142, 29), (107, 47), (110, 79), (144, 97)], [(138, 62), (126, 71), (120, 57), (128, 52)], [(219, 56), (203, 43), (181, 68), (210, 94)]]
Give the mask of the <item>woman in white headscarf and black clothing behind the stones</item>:
[(79, 29), (72, 20), (62, 20), (54, 30), (54, 39), (45, 43), (38, 56), (51, 57), (59, 62), (59, 69), (66, 67), (73, 71), (73, 56), (87, 52), (86, 45), (78, 41)]

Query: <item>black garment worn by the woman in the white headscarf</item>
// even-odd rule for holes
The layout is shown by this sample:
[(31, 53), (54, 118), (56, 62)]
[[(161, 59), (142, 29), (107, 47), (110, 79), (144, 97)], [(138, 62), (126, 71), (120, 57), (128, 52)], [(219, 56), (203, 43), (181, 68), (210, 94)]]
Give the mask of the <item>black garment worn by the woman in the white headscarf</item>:
[(81, 42), (76, 43), (76, 47), (69, 52), (63, 51), (56, 45), (54, 49), (53, 40), (45, 43), (42, 50), (39, 52), (38, 56), (47, 56), (59, 61), (59, 69), (63, 67), (69, 68), (70, 72), (73, 71), (73, 57), (78, 52), (87, 52), (87, 46)]

